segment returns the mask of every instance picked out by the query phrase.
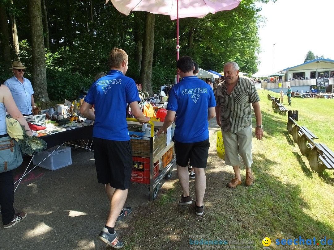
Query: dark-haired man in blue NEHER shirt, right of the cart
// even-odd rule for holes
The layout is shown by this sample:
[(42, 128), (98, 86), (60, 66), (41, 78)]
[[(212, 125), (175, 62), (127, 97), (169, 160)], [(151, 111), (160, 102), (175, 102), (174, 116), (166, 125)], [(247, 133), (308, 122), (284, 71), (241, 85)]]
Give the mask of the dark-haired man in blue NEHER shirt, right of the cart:
[(189, 162), (196, 174), (194, 207), (196, 214), (202, 215), (206, 188), (204, 169), (210, 147), (208, 121), (214, 117), (216, 102), (212, 88), (194, 76), (195, 67), (189, 56), (181, 57), (176, 67), (182, 80), (171, 89), (167, 115), (158, 135), (167, 132), (176, 115), (176, 127), (172, 140), (175, 143), (177, 175), (183, 191), (179, 205), (192, 204), (187, 169)]

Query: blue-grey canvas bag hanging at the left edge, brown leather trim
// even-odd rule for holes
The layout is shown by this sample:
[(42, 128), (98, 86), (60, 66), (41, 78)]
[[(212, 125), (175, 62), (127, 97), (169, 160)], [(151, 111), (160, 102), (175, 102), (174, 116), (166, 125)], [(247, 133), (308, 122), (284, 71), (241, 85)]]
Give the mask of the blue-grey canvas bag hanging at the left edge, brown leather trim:
[(18, 143), (9, 136), (0, 138), (0, 173), (13, 170), (23, 162)]

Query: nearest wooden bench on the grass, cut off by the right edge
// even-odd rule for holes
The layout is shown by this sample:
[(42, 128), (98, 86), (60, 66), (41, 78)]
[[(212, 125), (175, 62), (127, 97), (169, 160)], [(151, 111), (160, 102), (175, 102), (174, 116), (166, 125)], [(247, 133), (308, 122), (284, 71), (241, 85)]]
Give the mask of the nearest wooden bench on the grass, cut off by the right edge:
[[(297, 111), (298, 121), (298, 111)], [(298, 144), (302, 155), (307, 156), (310, 167), (315, 172), (322, 172), (325, 169), (334, 170), (334, 153), (323, 143), (315, 143), (318, 139), (305, 126), (299, 126), (294, 120), (292, 111), (288, 114), (288, 132), (292, 134), (293, 140)]]

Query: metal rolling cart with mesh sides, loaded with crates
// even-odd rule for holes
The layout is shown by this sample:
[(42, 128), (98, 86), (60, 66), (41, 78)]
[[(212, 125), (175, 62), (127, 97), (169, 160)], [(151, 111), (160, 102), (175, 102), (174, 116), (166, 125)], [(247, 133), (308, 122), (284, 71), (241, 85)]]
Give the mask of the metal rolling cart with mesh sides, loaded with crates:
[(148, 186), (150, 200), (155, 200), (164, 181), (171, 177), (176, 162), (174, 142), (171, 141), (175, 123), (168, 128), (167, 133), (157, 136), (154, 128), (161, 127), (163, 122), (150, 121), (148, 127), (151, 127), (151, 136), (146, 137), (143, 136), (144, 133), (131, 131), (142, 126), (136, 119), (127, 118), (127, 122), (133, 160), (131, 181)]

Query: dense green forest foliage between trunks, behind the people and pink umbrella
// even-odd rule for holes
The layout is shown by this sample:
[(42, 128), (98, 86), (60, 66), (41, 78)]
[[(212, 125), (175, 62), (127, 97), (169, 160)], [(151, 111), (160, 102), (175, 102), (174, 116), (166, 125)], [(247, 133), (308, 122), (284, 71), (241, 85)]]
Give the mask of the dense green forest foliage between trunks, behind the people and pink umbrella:
[[(255, 73), (259, 64), (260, 49), (258, 27), (260, 9), (255, 2), (268, 0), (243, 0), (230, 11), (209, 14), (204, 18), (184, 18), (179, 21), (180, 56), (189, 55), (203, 69), (223, 70), (227, 61), (236, 61), (240, 71)], [(28, 0), (2, 0), (7, 14), (16, 17), (20, 39), (20, 58), (27, 65), (27, 77), (32, 80), (32, 35), (28, 18)], [(45, 50), (47, 91), (50, 99), (73, 99), (81, 87), (89, 87), (97, 72), (108, 72), (108, 52), (114, 47), (124, 49), (129, 55), (127, 75), (136, 81), (149, 78), (141, 65), (145, 32), (145, 13), (119, 13), (111, 3), (101, 0), (70, 1), (45, 0), (43, 13), (47, 15), (44, 39), (49, 39)], [(46, 11), (45, 11), (46, 10)], [(42, 12), (42, 10), (41, 10)], [(44, 22), (45, 25), (45, 22)], [(146, 25), (149, 27), (149, 25)], [(12, 41), (10, 41), (12, 42)], [(154, 44), (151, 82), (145, 82), (156, 92), (159, 86), (173, 83), (176, 74), (176, 20), (169, 16), (155, 15)], [(145, 54), (146, 55), (146, 54)], [(12, 60), (14, 54), (12, 51)], [(8, 68), (0, 68), (0, 82), (10, 74)], [(142, 72), (141, 72), (142, 68)], [(148, 70), (151, 70), (148, 67)], [(30, 74), (30, 76), (29, 76)], [(148, 79), (148, 80), (146, 80)], [(32, 82), (34, 84), (34, 82)], [(35, 86), (34, 86), (35, 87)]]

